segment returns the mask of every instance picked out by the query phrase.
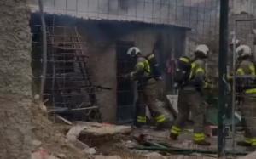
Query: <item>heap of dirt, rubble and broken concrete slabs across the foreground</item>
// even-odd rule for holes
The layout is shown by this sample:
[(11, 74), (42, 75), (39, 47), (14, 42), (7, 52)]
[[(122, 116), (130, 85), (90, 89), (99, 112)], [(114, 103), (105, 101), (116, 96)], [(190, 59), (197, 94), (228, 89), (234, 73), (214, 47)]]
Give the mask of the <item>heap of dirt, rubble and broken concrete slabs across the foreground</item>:
[[(131, 126), (118, 126), (97, 122), (69, 122), (62, 119), (56, 123), (49, 120), (43, 104), (32, 107), (33, 140), (32, 159), (213, 159), (216, 156), (189, 153), (172, 154), (169, 148), (175, 145), (161, 145), (168, 137), (167, 131), (149, 129), (133, 130)], [(57, 117), (60, 119), (60, 117)], [(188, 139), (187, 139), (188, 140)], [(186, 141), (183, 140), (183, 143)], [(182, 143), (180, 143), (182, 145)], [(147, 149), (154, 146), (156, 149)], [(184, 147), (190, 147), (182, 145)], [(178, 147), (178, 146), (177, 146)], [(166, 148), (165, 150), (157, 150)], [(183, 155), (182, 155), (183, 154)], [(252, 158), (254, 154), (241, 157)]]

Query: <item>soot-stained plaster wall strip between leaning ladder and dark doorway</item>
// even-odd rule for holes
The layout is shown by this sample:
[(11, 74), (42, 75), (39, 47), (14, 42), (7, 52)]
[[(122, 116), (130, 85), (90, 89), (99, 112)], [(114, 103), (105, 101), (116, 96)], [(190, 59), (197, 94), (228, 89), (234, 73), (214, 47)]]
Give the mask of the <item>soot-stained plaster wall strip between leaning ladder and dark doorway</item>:
[(83, 21), (76, 26), (83, 38), (84, 50), (90, 56), (89, 68), (93, 84), (111, 88), (111, 90), (102, 89), (96, 94), (102, 121), (115, 122), (117, 83), (115, 43), (95, 24), (84, 24)]

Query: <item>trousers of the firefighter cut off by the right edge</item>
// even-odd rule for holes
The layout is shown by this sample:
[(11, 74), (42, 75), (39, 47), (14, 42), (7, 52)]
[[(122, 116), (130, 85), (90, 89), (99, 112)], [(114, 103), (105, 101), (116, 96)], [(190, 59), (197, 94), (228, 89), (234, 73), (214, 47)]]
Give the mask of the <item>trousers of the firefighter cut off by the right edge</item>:
[(241, 113), (245, 119), (245, 140), (256, 145), (256, 95), (244, 96)]

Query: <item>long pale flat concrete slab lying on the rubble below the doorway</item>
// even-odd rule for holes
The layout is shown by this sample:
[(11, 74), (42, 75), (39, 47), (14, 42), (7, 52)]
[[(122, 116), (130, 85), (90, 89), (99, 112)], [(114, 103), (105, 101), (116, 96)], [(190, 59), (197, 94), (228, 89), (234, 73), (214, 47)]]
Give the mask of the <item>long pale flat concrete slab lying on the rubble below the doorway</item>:
[(82, 129), (81, 134), (91, 134), (93, 136), (105, 136), (114, 134), (131, 133), (131, 126), (118, 126), (97, 122), (77, 122), (75, 128)]

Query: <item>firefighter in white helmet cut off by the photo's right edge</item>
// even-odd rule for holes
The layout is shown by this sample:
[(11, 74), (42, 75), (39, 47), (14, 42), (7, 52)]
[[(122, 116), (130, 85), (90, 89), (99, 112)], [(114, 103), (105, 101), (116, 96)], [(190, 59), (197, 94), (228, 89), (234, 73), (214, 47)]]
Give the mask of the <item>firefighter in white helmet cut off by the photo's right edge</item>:
[(244, 140), (237, 145), (256, 147), (256, 71), (252, 50), (247, 45), (236, 48), (236, 92), (241, 94), (241, 113), (245, 121)]

